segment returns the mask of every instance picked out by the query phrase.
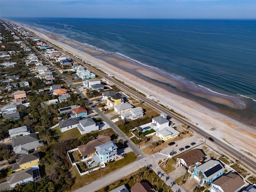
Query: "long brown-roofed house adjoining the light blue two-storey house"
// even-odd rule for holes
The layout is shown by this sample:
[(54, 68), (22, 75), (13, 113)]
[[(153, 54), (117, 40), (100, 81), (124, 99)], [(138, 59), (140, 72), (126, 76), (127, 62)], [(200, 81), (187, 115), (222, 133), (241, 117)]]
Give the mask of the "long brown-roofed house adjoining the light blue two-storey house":
[(80, 145), (77, 148), (82, 158), (85, 159), (85, 158), (91, 157), (92, 155), (95, 155), (96, 146), (99, 146), (101, 144), (104, 144), (110, 141), (111, 141), (110, 136), (104, 136), (104, 137), (89, 141), (87, 144)]

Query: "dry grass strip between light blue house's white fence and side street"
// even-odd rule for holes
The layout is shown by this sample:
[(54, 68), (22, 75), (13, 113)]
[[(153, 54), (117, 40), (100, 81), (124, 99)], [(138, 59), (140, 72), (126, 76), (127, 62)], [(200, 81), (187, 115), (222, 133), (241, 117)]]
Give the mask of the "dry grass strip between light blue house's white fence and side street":
[(134, 152), (130, 152), (130, 153), (127, 153), (127, 156), (125, 158), (122, 158), (115, 162), (110, 162), (110, 163), (106, 164), (105, 168), (95, 171), (95, 172), (92, 172), (90, 174), (83, 175), (83, 176), (80, 176), (76, 167), (72, 166), (72, 168), (70, 169), (70, 172), (73, 177), (76, 177), (76, 179), (75, 179), (74, 185), (72, 186), (71, 190), (74, 191), (78, 188), (88, 185), (88, 184), (94, 182), (95, 180), (97, 180), (101, 177), (104, 177), (107, 174), (114, 172), (115, 170), (118, 170), (136, 160), (137, 160), (136, 154)]

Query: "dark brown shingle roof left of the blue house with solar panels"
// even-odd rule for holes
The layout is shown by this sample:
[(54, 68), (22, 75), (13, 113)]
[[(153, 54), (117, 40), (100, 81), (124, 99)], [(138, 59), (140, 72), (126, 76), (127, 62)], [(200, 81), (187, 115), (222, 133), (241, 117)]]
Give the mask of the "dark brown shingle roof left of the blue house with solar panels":
[(197, 162), (200, 162), (200, 160), (204, 158), (204, 153), (200, 149), (192, 149), (180, 155), (178, 158), (183, 159), (189, 167)]

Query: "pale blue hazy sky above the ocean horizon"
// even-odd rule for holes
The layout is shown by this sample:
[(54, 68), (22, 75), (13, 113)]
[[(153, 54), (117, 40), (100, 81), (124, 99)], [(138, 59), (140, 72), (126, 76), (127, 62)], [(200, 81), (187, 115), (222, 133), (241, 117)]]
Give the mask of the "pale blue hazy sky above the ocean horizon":
[(0, 18), (256, 19), (256, 0), (0, 0)]

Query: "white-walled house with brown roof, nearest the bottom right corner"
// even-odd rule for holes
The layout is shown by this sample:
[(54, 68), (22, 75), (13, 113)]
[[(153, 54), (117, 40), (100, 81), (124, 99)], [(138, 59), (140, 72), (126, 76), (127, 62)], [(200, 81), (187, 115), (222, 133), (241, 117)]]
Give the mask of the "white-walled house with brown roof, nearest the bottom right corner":
[(210, 192), (239, 192), (245, 185), (244, 180), (236, 172), (222, 175), (212, 182)]

